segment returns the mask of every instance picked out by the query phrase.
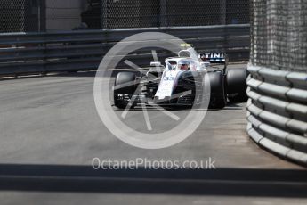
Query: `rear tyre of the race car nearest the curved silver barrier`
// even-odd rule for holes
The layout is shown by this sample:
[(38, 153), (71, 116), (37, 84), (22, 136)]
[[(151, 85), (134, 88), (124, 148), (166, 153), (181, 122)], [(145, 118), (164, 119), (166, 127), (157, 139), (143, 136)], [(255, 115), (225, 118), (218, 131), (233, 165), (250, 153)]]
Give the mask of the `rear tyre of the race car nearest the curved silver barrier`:
[(230, 68), (226, 72), (227, 94), (230, 102), (246, 102), (246, 78), (247, 70), (241, 68)]

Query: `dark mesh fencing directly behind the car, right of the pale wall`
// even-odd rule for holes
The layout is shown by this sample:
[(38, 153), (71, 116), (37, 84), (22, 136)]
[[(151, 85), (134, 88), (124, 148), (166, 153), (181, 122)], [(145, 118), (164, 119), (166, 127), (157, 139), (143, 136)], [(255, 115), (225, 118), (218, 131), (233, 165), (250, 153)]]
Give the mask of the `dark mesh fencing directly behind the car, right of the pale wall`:
[(101, 0), (103, 28), (249, 23), (249, 0)]

